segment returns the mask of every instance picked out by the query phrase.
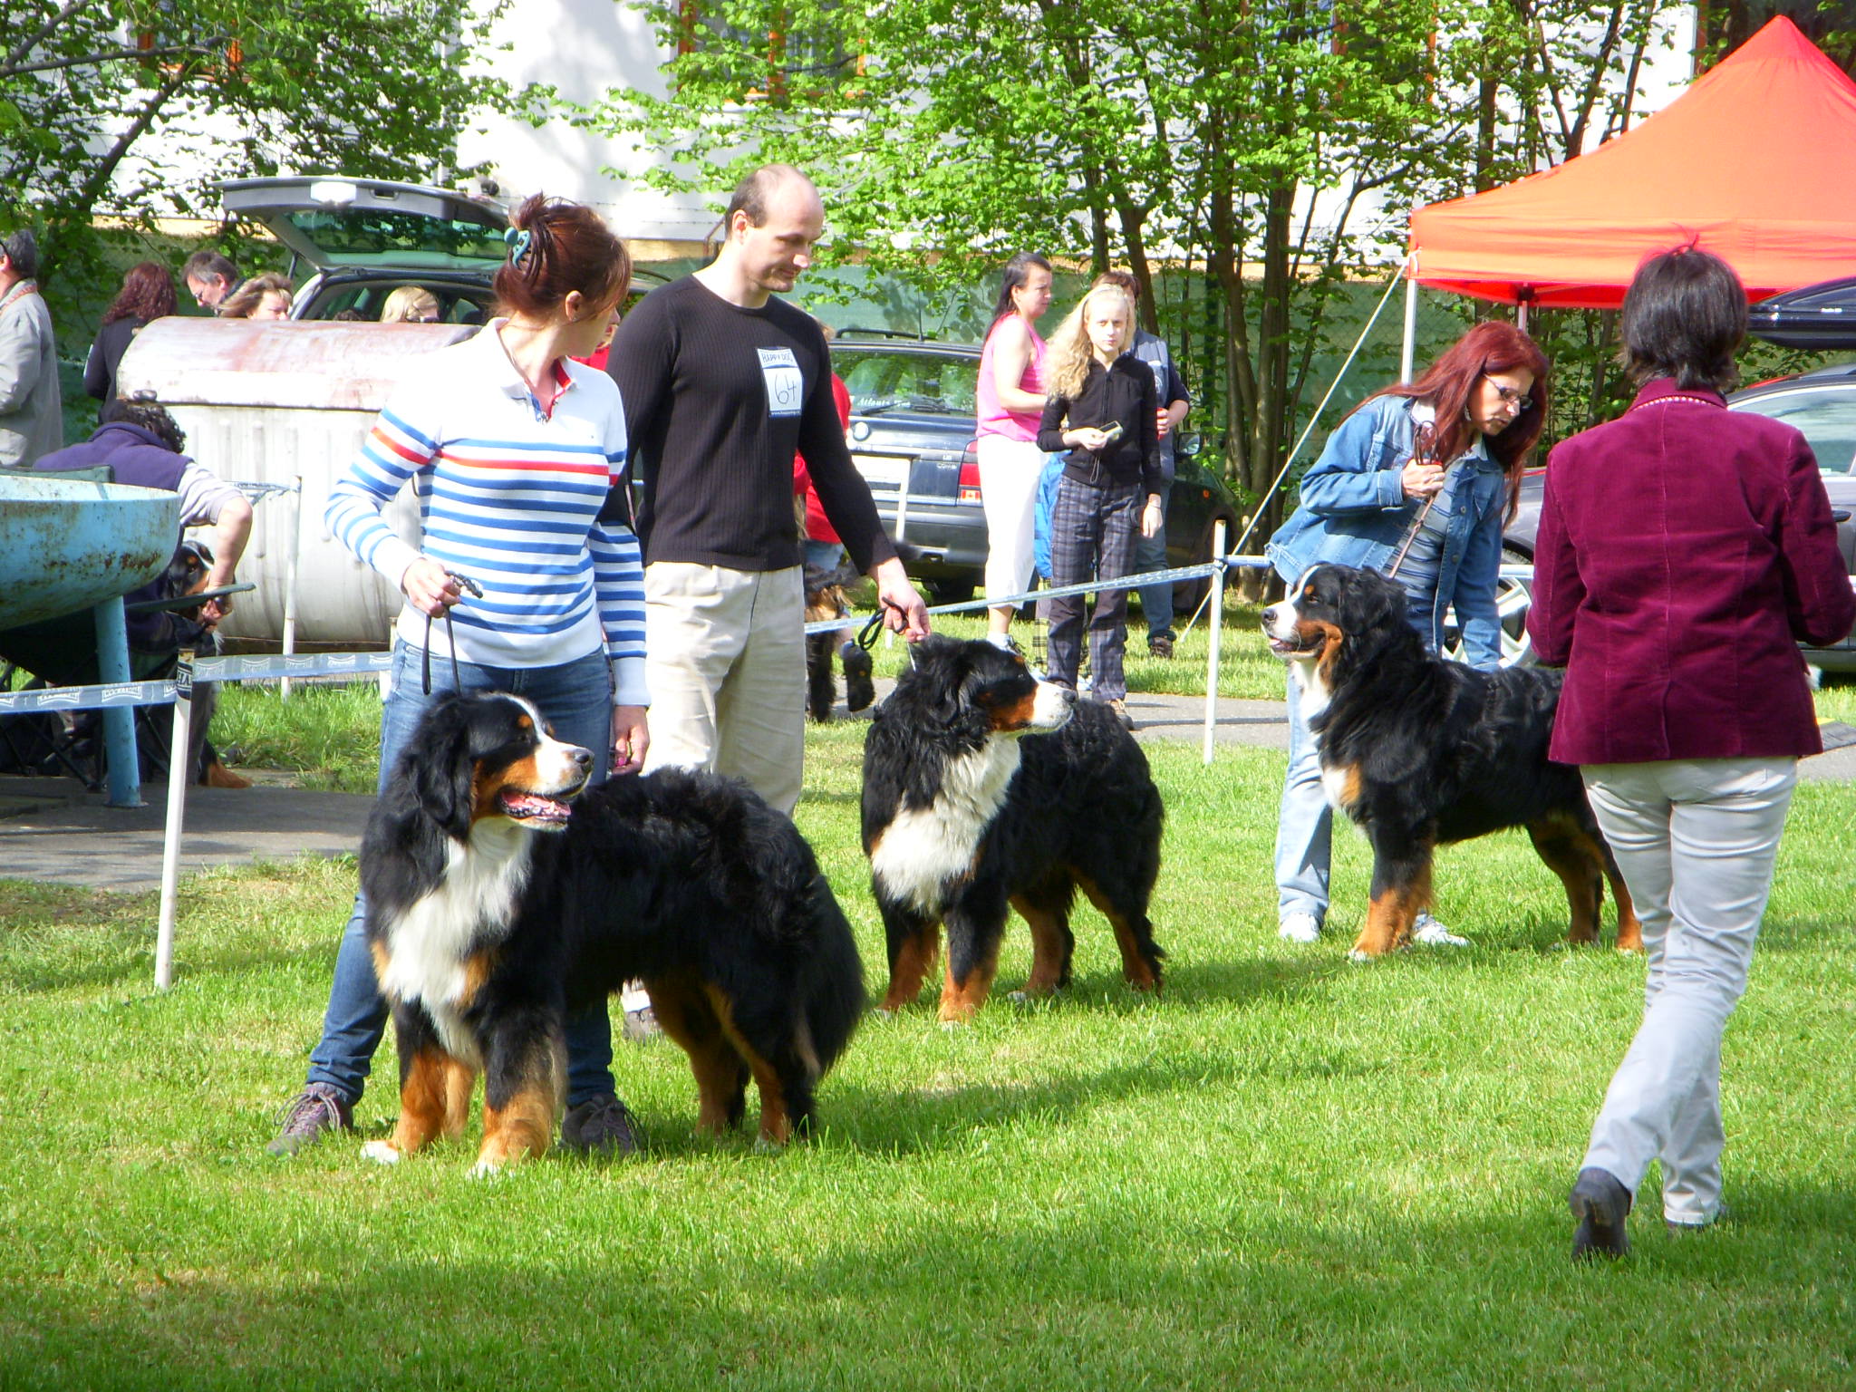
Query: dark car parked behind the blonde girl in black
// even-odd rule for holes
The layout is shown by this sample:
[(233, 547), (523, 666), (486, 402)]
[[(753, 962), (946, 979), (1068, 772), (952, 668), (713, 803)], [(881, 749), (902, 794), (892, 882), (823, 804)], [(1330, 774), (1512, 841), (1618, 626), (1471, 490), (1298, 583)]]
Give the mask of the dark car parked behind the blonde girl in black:
[[(852, 329), (831, 345), (831, 366), (850, 388), (852, 460), (870, 484), (883, 527), (919, 551), (909, 572), (937, 603), (971, 599), (986, 572), (973, 453), (980, 349)], [(1167, 499), (1167, 564), (1208, 561), (1212, 523), (1223, 520), (1234, 538), (1236, 518), (1223, 481), (1182, 455)], [(1203, 581), (1177, 585), (1175, 607), (1190, 609), (1203, 590)]]

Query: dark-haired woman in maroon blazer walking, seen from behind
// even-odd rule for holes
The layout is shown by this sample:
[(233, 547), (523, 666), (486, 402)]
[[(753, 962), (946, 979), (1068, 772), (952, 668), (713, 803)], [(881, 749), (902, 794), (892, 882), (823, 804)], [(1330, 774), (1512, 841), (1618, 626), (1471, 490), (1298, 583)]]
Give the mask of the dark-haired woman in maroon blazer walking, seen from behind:
[(1572, 1255), (1622, 1257), (1652, 1160), (1663, 1219), (1721, 1216), (1721, 1036), (1746, 989), (1797, 761), (1823, 750), (1798, 640), (1856, 618), (1791, 425), (1726, 410), (1746, 293), (1702, 251), (1624, 295), (1630, 410), (1553, 449), (1527, 631), (1566, 668), (1550, 755), (1579, 765), (1650, 958), (1643, 1026), (1572, 1188)]

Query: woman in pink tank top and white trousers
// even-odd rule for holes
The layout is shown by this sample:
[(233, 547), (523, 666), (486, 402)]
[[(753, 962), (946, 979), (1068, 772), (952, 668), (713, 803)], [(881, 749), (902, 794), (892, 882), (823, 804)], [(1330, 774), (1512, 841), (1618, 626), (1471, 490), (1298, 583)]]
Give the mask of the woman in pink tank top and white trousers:
[[(993, 327), (980, 349), (978, 414), (980, 505), (986, 509), (986, 596), (1023, 594), (1032, 581), (1034, 518), (1043, 451), (1045, 343), (1034, 327), (1050, 308), (1050, 262), (1021, 251), (1006, 262)], [(986, 633), (1012, 644), (1013, 605), (986, 611)]]

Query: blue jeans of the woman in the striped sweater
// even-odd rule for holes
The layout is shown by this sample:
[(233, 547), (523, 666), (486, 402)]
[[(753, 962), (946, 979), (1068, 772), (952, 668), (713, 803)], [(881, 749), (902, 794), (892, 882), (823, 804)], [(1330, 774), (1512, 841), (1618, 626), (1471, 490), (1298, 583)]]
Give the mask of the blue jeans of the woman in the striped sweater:
[[(555, 737), (568, 744), (592, 750), (592, 781), (603, 781), (612, 767), (612, 674), (603, 651), (559, 666), (477, 666), (458, 663), (462, 687), (451, 681), (451, 659), (432, 653), (432, 696), (421, 692), (423, 651), (403, 642), (393, 644), (392, 692), (380, 709), (380, 780), (386, 789), (388, 772), (399, 752), (412, 739), (419, 716), (432, 696), (447, 690), (507, 690), (535, 702)], [(373, 954), (367, 952), (367, 900), (354, 895), (354, 911), (342, 934), (336, 952), (336, 978), (329, 987), (329, 1010), (323, 1015), (323, 1038), (310, 1050), (310, 1082), (336, 1088), (347, 1101), (358, 1102), (367, 1086), (373, 1050), (386, 1034), (386, 1000), (373, 974)], [(568, 1045), (568, 1106), (612, 1091), (612, 1025), (605, 1004), (570, 1015)]]

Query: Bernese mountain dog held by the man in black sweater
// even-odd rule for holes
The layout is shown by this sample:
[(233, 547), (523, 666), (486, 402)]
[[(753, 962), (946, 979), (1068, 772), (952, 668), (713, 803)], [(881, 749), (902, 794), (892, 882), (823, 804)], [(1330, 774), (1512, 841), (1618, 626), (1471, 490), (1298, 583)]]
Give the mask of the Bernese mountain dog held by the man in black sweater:
[(1025, 995), (1069, 984), (1080, 887), (1121, 969), (1160, 989), (1147, 904), (1160, 874), (1160, 791), (1101, 702), (1038, 681), (1017, 653), (934, 637), (863, 744), (863, 850), (889, 941), (883, 1010), (911, 1002), (947, 924), (945, 1023), (973, 1017), (999, 971), (1008, 906), (1032, 930)]

